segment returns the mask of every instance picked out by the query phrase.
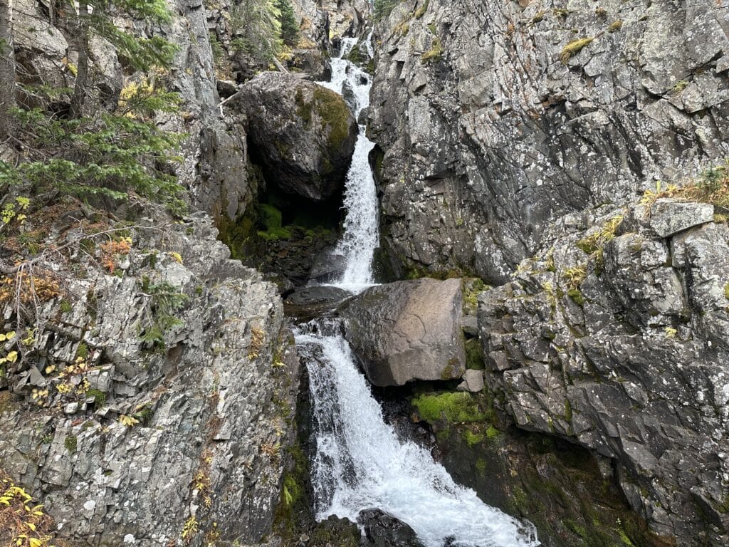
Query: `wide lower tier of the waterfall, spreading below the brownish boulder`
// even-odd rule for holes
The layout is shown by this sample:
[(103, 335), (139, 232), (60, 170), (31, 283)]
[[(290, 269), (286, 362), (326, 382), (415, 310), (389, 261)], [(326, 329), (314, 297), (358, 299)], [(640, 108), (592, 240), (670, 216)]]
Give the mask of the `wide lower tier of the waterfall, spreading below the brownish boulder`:
[(313, 401), (317, 520), (356, 521), (359, 511), (380, 508), (409, 524), (426, 547), (539, 546), (531, 524), (486, 505), (428, 451), (397, 438), (341, 335), (297, 333), (296, 341)]

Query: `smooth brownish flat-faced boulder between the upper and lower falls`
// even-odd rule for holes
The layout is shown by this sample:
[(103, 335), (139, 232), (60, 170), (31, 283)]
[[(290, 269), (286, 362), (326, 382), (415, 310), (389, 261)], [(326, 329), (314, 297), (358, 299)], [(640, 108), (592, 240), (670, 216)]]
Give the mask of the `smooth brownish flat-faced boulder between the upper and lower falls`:
[(465, 368), (461, 280), (370, 287), (341, 310), (345, 337), (376, 386), (448, 380)]

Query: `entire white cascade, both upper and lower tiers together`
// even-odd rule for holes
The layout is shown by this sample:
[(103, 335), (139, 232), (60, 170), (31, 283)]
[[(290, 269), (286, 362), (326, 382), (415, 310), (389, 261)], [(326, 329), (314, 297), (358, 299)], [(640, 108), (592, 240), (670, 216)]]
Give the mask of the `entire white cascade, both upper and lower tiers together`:
[[(367, 53), (372, 57), (370, 40), (371, 34)], [(369, 106), (371, 82), (344, 59), (354, 44), (354, 38), (343, 39), (341, 55), (332, 58), (331, 81), (319, 84), (348, 97), (359, 117)], [(368, 160), (373, 147), (360, 125), (346, 180), (344, 235), (335, 249), (346, 268), (332, 283), (351, 292), (374, 284), (372, 261), (379, 234)], [(426, 547), (539, 546), (531, 524), (489, 507), (473, 490), (456, 484), (428, 451), (400, 441), (384, 422), (338, 327), (319, 323), (314, 331), (297, 333), (296, 342), (307, 363), (313, 402), (316, 454), (311, 478), (317, 520), (336, 515), (356, 521), (360, 511), (379, 508), (410, 525)]]

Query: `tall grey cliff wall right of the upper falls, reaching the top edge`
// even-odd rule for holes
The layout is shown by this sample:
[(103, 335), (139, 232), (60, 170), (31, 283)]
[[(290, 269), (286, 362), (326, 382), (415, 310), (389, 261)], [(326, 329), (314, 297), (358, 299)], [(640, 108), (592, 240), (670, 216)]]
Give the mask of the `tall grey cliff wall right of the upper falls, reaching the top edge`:
[(397, 274), (504, 282), (550, 221), (725, 157), (727, 7), (405, 1), (370, 134)]

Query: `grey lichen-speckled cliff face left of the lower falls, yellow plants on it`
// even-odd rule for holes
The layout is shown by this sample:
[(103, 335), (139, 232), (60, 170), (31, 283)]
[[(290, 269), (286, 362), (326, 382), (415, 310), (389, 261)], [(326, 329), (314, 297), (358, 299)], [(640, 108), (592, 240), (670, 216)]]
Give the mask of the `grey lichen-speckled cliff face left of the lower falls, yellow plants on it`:
[(23, 359), (4, 365), (0, 460), (79, 545), (255, 542), (279, 500), (297, 388), (281, 300), (228, 260), (205, 215), (138, 221), (151, 228), (113, 249), (87, 238), (36, 271), (23, 341), (3, 299), (4, 333), (17, 331), (4, 351)]

